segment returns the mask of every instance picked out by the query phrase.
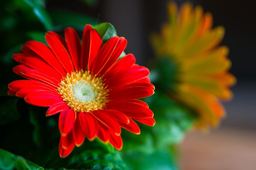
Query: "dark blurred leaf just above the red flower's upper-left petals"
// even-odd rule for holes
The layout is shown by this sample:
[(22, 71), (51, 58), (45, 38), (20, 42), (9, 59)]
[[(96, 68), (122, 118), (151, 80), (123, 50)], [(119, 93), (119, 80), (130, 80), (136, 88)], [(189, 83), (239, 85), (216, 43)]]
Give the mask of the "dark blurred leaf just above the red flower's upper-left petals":
[(96, 24), (96, 19), (70, 11), (54, 10), (50, 12), (55, 25), (54, 29), (64, 29), (73, 27), (75, 29), (84, 30), (86, 24)]

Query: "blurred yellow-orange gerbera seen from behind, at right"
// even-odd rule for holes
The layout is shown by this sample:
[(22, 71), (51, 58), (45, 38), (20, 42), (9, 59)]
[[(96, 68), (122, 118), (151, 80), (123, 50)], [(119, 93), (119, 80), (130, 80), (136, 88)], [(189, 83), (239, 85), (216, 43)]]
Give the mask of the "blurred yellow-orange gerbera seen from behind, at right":
[(218, 125), (225, 116), (220, 100), (232, 98), (229, 87), (236, 81), (228, 73), (228, 48), (218, 45), (224, 27), (212, 28), (212, 23), (212, 15), (204, 13), (201, 6), (193, 8), (191, 3), (184, 3), (178, 9), (170, 2), (168, 23), (160, 34), (151, 36), (161, 65), (156, 71), (159, 87), (193, 109), (200, 117), (196, 126), (202, 128)]

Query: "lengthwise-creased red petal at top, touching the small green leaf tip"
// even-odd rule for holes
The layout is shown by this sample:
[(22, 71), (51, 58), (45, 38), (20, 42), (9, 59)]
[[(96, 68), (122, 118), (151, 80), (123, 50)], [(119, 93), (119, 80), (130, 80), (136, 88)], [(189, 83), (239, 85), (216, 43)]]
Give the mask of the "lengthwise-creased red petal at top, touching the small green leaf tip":
[(88, 65), (88, 70), (91, 68), (91, 64), (94, 61), (100, 47), (102, 45), (102, 40), (99, 33), (92, 29), (91, 25), (86, 25), (82, 38), (82, 48), (81, 48), (81, 68), (86, 69)]

